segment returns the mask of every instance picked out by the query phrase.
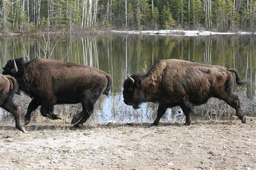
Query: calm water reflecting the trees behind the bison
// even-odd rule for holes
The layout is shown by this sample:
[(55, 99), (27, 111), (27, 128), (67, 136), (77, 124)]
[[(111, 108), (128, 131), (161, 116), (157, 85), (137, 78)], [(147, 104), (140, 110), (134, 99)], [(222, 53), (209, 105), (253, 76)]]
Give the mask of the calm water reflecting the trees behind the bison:
[[(91, 121), (152, 122), (156, 117), (156, 104), (145, 103), (138, 110), (124, 104), (122, 84), (126, 74), (145, 73), (156, 61), (174, 58), (236, 68), (242, 79), (251, 77), (251, 84), (242, 89), (246, 90), (250, 100), (255, 101), (255, 42), (255, 36), (107, 34), (85, 37), (0, 37), (0, 65), (3, 67), (6, 61), (18, 57), (26, 60), (41, 57), (102, 69), (113, 77), (111, 97), (100, 97)], [(169, 109), (163, 121), (179, 121), (183, 118), (181, 115), (178, 109)]]

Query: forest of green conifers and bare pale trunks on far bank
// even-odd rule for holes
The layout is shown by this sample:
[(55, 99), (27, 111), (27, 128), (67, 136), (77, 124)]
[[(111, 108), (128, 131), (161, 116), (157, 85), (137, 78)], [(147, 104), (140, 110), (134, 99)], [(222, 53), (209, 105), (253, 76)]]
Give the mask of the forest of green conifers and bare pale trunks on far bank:
[(0, 31), (255, 30), (255, 0), (2, 0)]

